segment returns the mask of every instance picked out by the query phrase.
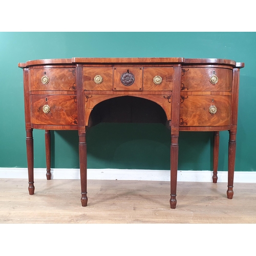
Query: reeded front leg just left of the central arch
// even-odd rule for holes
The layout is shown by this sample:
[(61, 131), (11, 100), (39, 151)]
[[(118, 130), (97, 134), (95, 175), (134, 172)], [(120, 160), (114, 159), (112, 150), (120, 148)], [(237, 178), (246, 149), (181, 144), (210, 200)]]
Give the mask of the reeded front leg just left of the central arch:
[(87, 144), (86, 133), (78, 132), (79, 134), (79, 161), (80, 161), (80, 179), (81, 179), (81, 203), (82, 206), (87, 206)]

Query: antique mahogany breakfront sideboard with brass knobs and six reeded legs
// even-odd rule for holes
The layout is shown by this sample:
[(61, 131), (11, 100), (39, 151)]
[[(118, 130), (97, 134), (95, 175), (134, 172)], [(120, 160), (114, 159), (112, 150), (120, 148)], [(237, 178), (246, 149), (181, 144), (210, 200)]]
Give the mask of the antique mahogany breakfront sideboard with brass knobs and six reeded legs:
[[(51, 179), (50, 130), (77, 130), (81, 204), (87, 206), (87, 129), (102, 121), (102, 113), (104, 118), (110, 114), (106, 109), (110, 108), (111, 100), (118, 99), (111, 104), (112, 115), (113, 110), (116, 113), (111, 120), (115, 121), (118, 113), (127, 114), (122, 113), (122, 104), (134, 98), (136, 113), (144, 109), (143, 116), (151, 120), (151, 114), (160, 108), (170, 129), (170, 208), (175, 209), (177, 204), (180, 131), (212, 132), (214, 183), (218, 179), (219, 132), (229, 131), (227, 198), (232, 199), (239, 73), (244, 63), (227, 59), (75, 57), (31, 60), (18, 63), (18, 67), (24, 74), (30, 195), (35, 189), (33, 129), (45, 130), (48, 180)], [(154, 106), (147, 107), (148, 102)], [(152, 115), (152, 119), (155, 117)]]

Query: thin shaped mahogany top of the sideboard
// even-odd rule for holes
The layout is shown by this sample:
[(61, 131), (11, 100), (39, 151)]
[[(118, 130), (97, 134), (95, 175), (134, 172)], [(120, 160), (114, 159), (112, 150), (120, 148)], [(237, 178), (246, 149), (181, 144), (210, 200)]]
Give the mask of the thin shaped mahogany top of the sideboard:
[(243, 62), (236, 62), (229, 59), (217, 58), (181, 58), (181, 57), (164, 57), (164, 58), (66, 58), (66, 59), (37, 59), (29, 60), (25, 63), (18, 63), (19, 68), (27, 68), (38, 65), (65, 65), (76, 63), (181, 63), (183, 65), (209, 64), (209, 65), (229, 65), (232, 67), (243, 68)]

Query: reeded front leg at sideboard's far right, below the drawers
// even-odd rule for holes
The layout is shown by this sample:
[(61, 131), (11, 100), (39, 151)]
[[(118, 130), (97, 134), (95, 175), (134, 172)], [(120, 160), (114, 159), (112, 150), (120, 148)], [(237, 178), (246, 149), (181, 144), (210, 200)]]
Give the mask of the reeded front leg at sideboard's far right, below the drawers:
[(236, 160), (236, 131), (229, 131), (227, 198), (233, 198), (234, 162)]

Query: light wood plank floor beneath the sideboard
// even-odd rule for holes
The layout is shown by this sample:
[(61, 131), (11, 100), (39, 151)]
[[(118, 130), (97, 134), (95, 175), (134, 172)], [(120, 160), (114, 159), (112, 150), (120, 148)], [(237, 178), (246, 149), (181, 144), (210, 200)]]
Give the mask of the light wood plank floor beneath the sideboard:
[(89, 180), (88, 206), (80, 180), (0, 179), (0, 223), (256, 223), (256, 184), (178, 182), (177, 208), (169, 207), (169, 182)]

